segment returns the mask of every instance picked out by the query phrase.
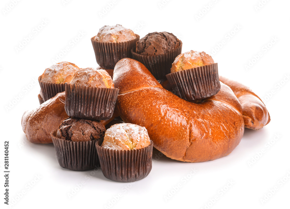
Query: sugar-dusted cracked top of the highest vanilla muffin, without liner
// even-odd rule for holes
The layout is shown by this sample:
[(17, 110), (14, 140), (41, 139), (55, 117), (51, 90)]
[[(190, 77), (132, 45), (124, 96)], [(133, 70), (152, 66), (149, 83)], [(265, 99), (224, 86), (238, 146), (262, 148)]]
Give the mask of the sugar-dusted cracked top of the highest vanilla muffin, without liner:
[(135, 39), (135, 33), (133, 30), (122, 27), (122, 25), (116, 26), (103, 26), (99, 33), (94, 37), (94, 40), (99, 42), (113, 42), (120, 43), (131, 41)]

